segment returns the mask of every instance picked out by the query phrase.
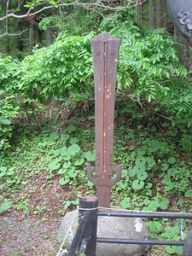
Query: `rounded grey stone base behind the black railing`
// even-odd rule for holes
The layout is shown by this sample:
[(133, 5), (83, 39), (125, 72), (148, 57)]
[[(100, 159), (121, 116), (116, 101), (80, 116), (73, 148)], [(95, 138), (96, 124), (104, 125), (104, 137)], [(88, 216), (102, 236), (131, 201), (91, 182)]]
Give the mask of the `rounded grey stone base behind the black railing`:
[[(78, 227), (78, 211), (68, 212), (62, 219), (58, 234), (61, 243), (67, 235), (65, 247), (73, 240)], [(138, 218), (98, 217), (97, 236), (106, 238), (149, 239), (148, 227)], [(97, 243), (96, 256), (142, 256), (148, 251), (146, 245)]]

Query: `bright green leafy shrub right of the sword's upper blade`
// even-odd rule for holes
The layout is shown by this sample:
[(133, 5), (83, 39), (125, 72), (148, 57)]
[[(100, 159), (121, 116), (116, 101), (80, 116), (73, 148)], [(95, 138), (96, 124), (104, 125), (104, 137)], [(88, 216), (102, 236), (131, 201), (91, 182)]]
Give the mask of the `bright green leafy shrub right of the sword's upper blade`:
[(138, 26), (127, 12), (109, 15), (101, 30), (121, 39), (118, 89), (148, 117), (164, 114), (173, 125), (189, 127), (192, 86), (187, 70), (179, 63), (180, 46), (175, 39), (164, 29)]

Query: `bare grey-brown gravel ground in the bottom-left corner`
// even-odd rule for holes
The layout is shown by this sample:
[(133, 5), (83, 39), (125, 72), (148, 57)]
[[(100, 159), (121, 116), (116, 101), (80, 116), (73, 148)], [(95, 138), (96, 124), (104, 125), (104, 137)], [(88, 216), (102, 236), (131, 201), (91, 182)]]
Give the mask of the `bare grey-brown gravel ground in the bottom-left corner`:
[(61, 222), (41, 221), (22, 212), (7, 212), (0, 217), (0, 256), (52, 256)]

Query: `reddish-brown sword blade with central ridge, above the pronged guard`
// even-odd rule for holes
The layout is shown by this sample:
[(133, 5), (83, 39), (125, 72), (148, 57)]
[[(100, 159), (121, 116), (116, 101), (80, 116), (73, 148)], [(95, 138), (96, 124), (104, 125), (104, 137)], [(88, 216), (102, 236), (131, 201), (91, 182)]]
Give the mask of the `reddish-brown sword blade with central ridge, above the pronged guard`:
[(95, 81), (96, 173), (113, 175), (114, 97), (119, 38), (103, 33), (90, 40)]

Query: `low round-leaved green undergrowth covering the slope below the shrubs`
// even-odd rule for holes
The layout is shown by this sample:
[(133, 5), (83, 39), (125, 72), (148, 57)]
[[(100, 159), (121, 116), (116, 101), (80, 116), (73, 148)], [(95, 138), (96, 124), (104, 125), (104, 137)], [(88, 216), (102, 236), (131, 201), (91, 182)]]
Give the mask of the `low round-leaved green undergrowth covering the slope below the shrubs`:
[[(117, 108), (118, 109), (118, 108)], [(121, 108), (122, 110), (123, 108)], [(77, 116), (78, 114), (78, 116)], [(87, 179), (85, 163), (95, 165), (95, 128), (92, 112), (81, 110), (61, 125), (22, 126), (16, 128), (11, 148), (1, 153), (0, 213), (14, 208), (29, 213), (34, 178), (46, 174), (44, 188), (53, 181), (68, 193), (63, 199), (67, 209), (78, 204), (81, 195), (96, 195), (96, 187)], [(116, 114), (114, 128), (113, 166), (123, 164), (122, 177), (113, 186), (111, 204), (129, 210), (150, 212), (189, 212), (192, 196), (192, 158), (186, 133), (167, 120), (148, 119), (140, 115), (132, 119), (122, 111)], [(20, 195), (25, 188), (27, 193)], [(77, 192), (75, 192), (77, 191)], [(43, 193), (42, 192), (42, 193)], [(20, 196), (19, 196), (20, 195)], [(58, 195), (59, 196), (59, 195)], [(42, 207), (33, 210), (42, 216)], [(148, 229), (155, 239), (186, 238), (189, 220), (149, 219)], [(173, 236), (174, 235), (174, 236)], [(158, 248), (154, 247), (154, 251)], [(166, 247), (167, 255), (182, 253), (182, 247)], [(158, 254), (158, 253), (157, 253)], [(160, 254), (160, 252), (159, 252)]]

